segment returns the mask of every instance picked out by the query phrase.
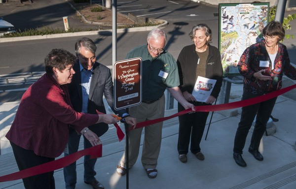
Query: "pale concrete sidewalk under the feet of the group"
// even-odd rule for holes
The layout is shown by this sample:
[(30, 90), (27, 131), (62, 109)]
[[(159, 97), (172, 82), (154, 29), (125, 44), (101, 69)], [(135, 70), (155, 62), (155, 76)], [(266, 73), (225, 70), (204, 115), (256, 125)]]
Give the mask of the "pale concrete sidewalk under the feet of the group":
[[(232, 85), (231, 96), (242, 93), (241, 85)], [(239, 98), (231, 101), (238, 101)], [(240, 108), (236, 116), (229, 111), (215, 112), (207, 140), (202, 140), (201, 149), (205, 160), (200, 161), (188, 153), (188, 162), (178, 159), (178, 122), (167, 122), (163, 128), (161, 153), (158, 159), (158, 175), (149, 179), (142, 164), (141, 152), (137, 163), (130, 169), (130, 189), (295, 189), (296, 188), (296, 101), (284, 95), (278, 97), (272, 115), (279, 119), (274, 122), (276, 133), (263, 136), (260, 151), (263, 161), (257, 161), (247, 149), (248, 135), (243, 158), (247, 167), (239, 167), (232, 158), (233, 140), (240, 119)], [(0, 105), (1, 110), (5, 108)], [(233, 111), (233, 110), (231, 110)], [(174, 112), (170, 112), (172, 114)], [(210, 116), (208, 119), (209, 124)], [(176, 121), (176, 120), (175, 120)], [(204, 137), (207, 131), (206, 126)], [(113, 132), (113, 131), (112, 131)], [(96, 178), (105, 189), (125, 189), (126, 176), (116, 173), (116, 165), (123, 154), (124, 140), (103, 145), (103, 157), (96, 163)], [(103, 142), (104, 144), (104, 142)], [(141, 149), (142, 150), (142, 149)], [(12, 157), (11, 157), (12, 158)], [(77, 161), (76, 189), (91, 189), (83, 182), (83, 158)], [(54, 174), (56, 188), (63, 189), (63, 170)], [(22, 181), (0, 183), (1, 189), (24, 189)]]

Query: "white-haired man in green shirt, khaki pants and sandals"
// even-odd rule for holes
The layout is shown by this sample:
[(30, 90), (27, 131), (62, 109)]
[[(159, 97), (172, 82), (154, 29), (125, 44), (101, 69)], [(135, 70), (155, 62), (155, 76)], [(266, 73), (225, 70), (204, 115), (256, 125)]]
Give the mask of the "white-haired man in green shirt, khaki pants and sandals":
[[(164, 91), (170, 93), (180, 102), (185, 109), (194, 106), (185, 100), (179, 89), (178, 67), (174, 57), (164, 50), (166, 34), (160, 29), (154, 29), (148, 33), (147, 44), (130, 51), (126, 59), (142, 58), (142, 103), (129, 108), (129, 115), (137, 119), (137, 122), (145, 122), (164, 117), (165, 98)], [(129, 168), (137, 161), (140, 149), (141, 134), (143, 128), (129, 132)], [(142, 152), (142, 164), (149, 178), (157, 176), (157, 159), (160, 152), (162, 122), (145, 127), (145, 136)], [(119, 175), (126, 174), (125, 153), (120, 165), (117, 165)]]

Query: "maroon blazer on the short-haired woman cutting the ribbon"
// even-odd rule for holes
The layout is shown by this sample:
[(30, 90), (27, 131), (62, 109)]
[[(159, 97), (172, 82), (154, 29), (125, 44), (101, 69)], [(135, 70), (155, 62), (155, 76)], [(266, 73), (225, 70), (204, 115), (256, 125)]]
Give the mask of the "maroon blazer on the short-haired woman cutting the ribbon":
[(58, 86), (51, 75), (44, 74), (22, 96), (6, 138), (38, 156), (56, 158), (68, 143), (70, 124), (80, 132), (98, 118), (75, 112), (67, 86)]

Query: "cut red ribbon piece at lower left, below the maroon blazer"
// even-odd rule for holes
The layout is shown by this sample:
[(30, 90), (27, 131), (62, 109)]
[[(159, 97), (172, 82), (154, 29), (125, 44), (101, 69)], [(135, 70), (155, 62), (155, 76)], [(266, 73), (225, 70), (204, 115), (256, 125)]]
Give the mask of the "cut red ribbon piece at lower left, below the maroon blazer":
[(4, 175), (0, 177), (0, 182), (14, 181), (14, 180), (23, 179), (23, 178), (31, 177), (34, 175), (54, 171), (56, 169), (66, 167), (71, 163), (73, 163), (74, 161), (76, 161), (77, 159), (86, 155), (90, 155), (90, 158), (102, 157), (102, 144), (78, 151), (64, 158), (60, 158), (54, 161), (50, 161), (48, 163), (37, 165), (35, 167), (24, 169), (19, 172), (11, 173), (9, 175)]

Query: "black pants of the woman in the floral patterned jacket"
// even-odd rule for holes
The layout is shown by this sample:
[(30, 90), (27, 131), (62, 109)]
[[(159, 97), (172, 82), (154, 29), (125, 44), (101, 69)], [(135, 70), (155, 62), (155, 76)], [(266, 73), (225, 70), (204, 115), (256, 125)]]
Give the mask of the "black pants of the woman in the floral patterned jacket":
[[(242, 100), (254, 98), (257, 96), (259, 95), (255, 95), (244, 91)], [(258, 150), (260, 140), (265, 132), (266, 125), (271, 115), (276, 99), (277, 97), (260, 102), (258, 104), (242, 107), (241, 119), (235, 134), (233, 152), (238, 154), (243, 153), (247, 135), (256, 115), (256, 122), (251, 138), (250, 147), (252, 147), (254, 150)]]

